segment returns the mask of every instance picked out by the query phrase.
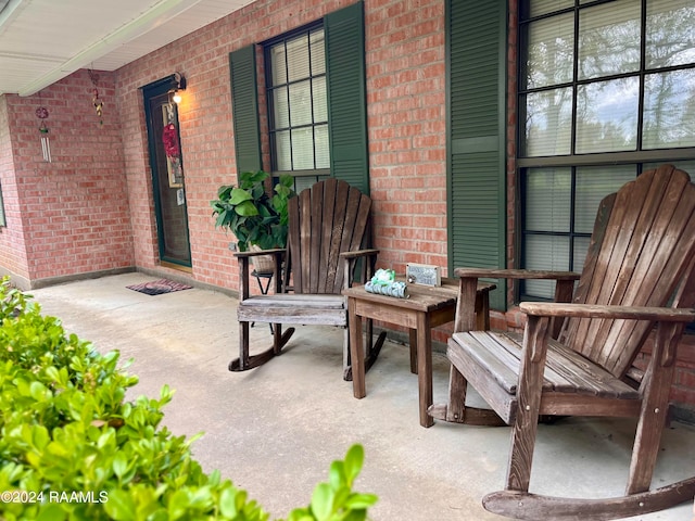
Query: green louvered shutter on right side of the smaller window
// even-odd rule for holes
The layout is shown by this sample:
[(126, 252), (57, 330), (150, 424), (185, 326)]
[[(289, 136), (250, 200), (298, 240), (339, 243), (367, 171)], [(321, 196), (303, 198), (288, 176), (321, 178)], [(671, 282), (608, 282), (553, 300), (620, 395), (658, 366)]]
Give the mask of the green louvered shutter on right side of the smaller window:
[(363, 2), (328, 14), (324, 28), (331, 176), (368, 194)]

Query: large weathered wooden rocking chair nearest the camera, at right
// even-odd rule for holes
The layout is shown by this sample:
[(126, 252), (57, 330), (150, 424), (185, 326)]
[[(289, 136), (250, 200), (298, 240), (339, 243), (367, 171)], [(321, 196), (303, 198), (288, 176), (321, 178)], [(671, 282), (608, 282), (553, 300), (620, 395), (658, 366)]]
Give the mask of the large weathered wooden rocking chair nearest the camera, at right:
[[(485, 509), (517, 519), (616, 519), (693, 500), (695, 478), (649, 487), (677, 344), (685, 322), (695, 320), (695, 309), (688, 309), (694, 266), (695, 186), (687, 174), (665, 165), (602, 202), (572, 303), (522, 303), (523, 336), (472, 331), (473, 306), (466, 300), (473, 302), (478, 277), (553, 274), (456, 270), (460, 301), (447, 347), (450, 399), (430, 412), (447, 421), (513, 425), (505, 490), (486, 495)], [(558, 278), (556, 296), (569, 301), (572, 277)], [(631, 382), (633, 360), (655, 325), (648, 369), (641, 383)], [(498, 417), (466, 406), (466, 382)], [(539, 416), (637, 417), (626, 495), (574, 499), (529, 493)]]

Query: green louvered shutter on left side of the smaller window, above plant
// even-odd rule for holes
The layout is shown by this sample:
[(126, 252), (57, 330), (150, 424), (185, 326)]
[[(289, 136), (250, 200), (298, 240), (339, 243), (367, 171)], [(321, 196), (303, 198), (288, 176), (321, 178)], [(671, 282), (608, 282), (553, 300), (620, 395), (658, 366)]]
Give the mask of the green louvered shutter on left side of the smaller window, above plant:
[(238, 174), (263, 169), (255, 48), (255, 45), (251, 45), (229, 53), (231, 117)]

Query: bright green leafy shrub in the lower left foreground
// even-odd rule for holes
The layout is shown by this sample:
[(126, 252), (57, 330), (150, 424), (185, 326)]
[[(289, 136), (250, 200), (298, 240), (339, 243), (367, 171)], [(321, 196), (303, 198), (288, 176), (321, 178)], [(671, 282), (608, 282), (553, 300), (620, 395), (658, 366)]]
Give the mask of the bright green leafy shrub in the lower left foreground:
[[(22, 292), (0, 284), (0, 519), (265, 521), (245, 491), (206, 474), (194, 439), (160, 425), (172, 398), (125, 401), (138, 379)], [(356, 521), (377, 500), (352, 491), (363, 448), (333, 461), (329, 481), (288, 521)]]

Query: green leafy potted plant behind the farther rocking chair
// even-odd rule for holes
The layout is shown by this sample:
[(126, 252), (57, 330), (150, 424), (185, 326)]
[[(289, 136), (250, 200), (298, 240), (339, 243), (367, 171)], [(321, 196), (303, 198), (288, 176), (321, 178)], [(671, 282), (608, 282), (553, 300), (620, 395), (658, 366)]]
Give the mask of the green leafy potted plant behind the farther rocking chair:
[(215, 228), (225, 228), (237, 236), (239, 250), (250, 245), (261, 250), (285, 247), (288, 231), (288, 201), (295, 194), (290, 175), (280, 176), (273, 195), (266, 191), (267, 171), (239, 174), (239, 186), (225, 185), (217, 190), (217, 199), (210, 202)]

